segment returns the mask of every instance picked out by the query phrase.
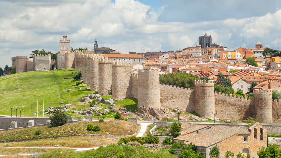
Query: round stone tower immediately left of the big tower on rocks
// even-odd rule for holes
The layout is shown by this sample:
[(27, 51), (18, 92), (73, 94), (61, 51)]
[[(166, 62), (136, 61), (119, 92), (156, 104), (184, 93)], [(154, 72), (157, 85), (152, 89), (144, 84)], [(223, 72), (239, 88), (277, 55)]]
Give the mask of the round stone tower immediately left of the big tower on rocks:
[(112, 99), (125, 99), (130, 95), (130, 78), (132, 74), (132, 62), (115, 62), (112, 64)]

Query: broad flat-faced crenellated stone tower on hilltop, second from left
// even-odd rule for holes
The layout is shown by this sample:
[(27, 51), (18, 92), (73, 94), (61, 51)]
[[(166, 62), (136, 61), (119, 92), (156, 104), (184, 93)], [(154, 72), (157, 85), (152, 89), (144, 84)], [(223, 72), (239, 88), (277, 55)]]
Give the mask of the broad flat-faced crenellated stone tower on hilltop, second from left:
[(51, 54), (33, 55), (33, 70), (51, 70)]

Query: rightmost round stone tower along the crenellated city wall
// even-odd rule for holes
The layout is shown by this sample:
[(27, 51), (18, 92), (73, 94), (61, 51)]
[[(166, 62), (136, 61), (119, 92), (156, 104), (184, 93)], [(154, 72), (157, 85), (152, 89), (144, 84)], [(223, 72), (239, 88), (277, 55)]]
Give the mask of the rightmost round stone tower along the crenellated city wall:
[(272, 123), (272, 90), (254, 90), (256, 119), (262, 123)]

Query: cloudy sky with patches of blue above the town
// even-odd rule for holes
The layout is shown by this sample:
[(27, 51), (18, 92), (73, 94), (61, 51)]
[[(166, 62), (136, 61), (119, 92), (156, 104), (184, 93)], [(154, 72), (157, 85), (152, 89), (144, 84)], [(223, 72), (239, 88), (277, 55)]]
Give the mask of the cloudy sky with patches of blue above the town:
[(1, 0), (0, 67), (32, 50), (59, 51), (65, 33), (73, 48), (121, 53), (182, 50), (207, 31), (226, 47), (281, 50), (278, 0)]

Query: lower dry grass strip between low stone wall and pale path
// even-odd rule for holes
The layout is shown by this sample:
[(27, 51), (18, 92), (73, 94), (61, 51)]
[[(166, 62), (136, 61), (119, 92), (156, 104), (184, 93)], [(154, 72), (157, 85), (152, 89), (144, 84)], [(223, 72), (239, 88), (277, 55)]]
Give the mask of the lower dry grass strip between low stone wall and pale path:
[(63, 138), (39, 139), (27, 142), (0, 143), (7, 147), (54, 147), (59, 145), (64, 148), (94, 148), (101, 145), (115, 144), (120, 138), (108, 138), (101, 136), (72, 136)]

